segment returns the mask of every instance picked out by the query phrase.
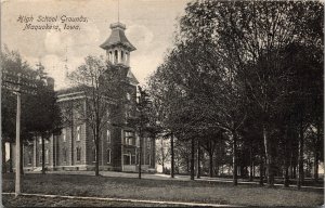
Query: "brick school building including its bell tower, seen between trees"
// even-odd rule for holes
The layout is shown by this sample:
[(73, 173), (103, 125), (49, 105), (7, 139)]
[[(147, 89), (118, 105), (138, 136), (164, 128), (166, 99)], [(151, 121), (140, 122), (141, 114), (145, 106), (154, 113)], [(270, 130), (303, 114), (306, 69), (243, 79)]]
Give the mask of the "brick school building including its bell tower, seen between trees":
[[(126, 79), (121, 80), (122, 99), (112, 102), (107, 113), (114, 113), (102, 130), (99, 150), (101, 170), (136, 171), (139, 164), (140, 141), (134, 129), (123, 125), (126, 116), (134, 116), (138, 80), (129, 67), (130, 52), (135, 48), (126, 39), (118, 37), (126, 29), (117, 23), (110, 25), (112, 37), (101, 47), (107, 58)], [(127, 80), (127, 81), (126, 81)], [(95, 166), (95, 143), (92, 129), (80, 119), (87, 110), (86, 94), (80, 88), (72, 88), (57, 92), (57, 103), (64, 117), (64, 126), (60, 135), (52, 135), (44, 143), (46, 167), (52, 170), (93, 170)], [(86, 115), (86, 114), (84, 114)], [(107, 135), (108, 133), (108, 135)], [(41, 167), (41, 143), (36, 138), (32, 144), (24, 146), (24, 167), (39, 169)], [(143, 139), (142, 169), (155, 171), (155, 141)]]

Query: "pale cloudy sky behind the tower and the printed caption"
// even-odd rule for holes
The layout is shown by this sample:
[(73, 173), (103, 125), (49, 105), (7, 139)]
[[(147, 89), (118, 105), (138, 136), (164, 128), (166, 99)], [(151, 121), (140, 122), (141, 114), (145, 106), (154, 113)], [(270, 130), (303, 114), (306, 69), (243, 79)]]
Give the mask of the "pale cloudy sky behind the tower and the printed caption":
[[(178, 18), (190, 0), (1, 0), (1, 47), (21, 53), (32, 67), (41, 62), (55, 89), (68, 87), (68, 72), (88, 55), (105, 55), (99, 46), (110, 35), (109, 25), (126, 24), (126, 36), (136, 48), (130, 66), (140, 84), (145, 83), (172, 47)], [(118, 6), (119, 4), (119, 6)], [(74, 17), (87, 22), (62, 23)], [(31, 20), (32, 17), (32, 20)], [(55, 26), (58, 29), (30, 29)], [(77, 26), (66, 29), (65, 24)], [(67, 60), (67, 61), (66, 61)]]

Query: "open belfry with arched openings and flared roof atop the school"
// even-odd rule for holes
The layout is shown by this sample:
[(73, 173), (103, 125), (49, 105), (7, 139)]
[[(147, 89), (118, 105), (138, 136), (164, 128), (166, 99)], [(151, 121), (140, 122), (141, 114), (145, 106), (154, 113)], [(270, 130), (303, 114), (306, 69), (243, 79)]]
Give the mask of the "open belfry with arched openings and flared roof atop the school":
[(130, 52), (135, 50), (135, 47), (126, 37), (126, 25), (119, 22), (110, 24), (112, 34), (109, 38), (101, 44), (101, 48), (106, 51), (106, 57), (114, 65), (130, 66)]

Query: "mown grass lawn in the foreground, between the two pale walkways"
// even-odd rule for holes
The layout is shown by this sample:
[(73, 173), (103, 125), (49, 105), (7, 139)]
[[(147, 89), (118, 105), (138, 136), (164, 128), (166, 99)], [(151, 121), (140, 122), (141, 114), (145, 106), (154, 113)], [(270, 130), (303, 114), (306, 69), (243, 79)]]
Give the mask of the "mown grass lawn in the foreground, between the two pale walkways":
[[(14, 191), (14, 174), (3, 176), (2, 187), (3, 192)], [(316, 207), (324, 203), (323, 190), (298, 191), (292, 187), (270, 188), (249, 184), (235, 187), (229, 183), (207, 181), (139, 180), (72, 174), (25, 174), (23, 192), (259, 207)], [(56, 202), (52, 200), (51, 206), (56, 206)], [(106, 206), (114, 206), (114, 203)]]

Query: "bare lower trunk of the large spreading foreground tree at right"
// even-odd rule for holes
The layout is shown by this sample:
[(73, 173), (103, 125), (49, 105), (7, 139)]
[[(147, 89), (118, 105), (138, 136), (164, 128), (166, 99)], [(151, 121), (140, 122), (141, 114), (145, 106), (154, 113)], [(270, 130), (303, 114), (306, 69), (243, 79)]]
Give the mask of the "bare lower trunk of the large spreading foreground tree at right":
[(265, 159), (266, 159), (268, 185), (273, 186), (274, 185), (273, 156), (271, 153), (271, 141), (268, 136), (265, 126), (263, 126), (263, 141), (264, 141)]

